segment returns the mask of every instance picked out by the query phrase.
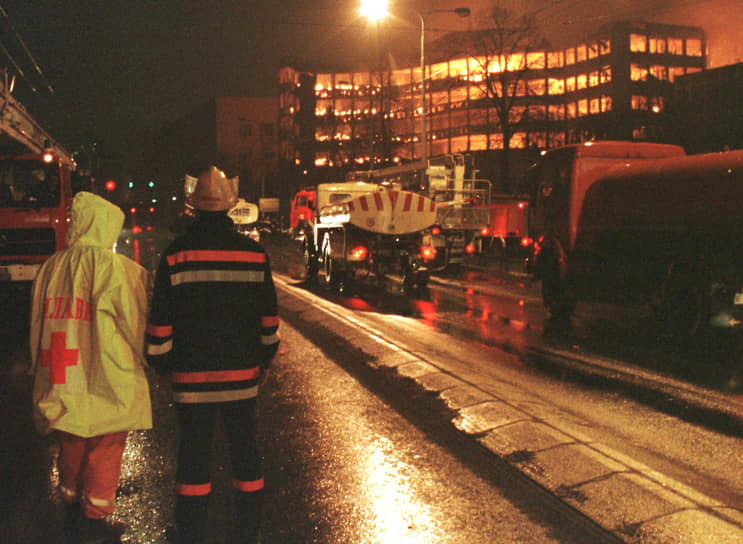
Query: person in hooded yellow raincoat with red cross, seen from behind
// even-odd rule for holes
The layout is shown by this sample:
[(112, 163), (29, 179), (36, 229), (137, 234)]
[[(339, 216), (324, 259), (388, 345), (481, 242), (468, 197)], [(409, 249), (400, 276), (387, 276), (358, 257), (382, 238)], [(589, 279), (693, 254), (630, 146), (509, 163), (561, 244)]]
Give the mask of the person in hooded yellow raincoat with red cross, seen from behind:
[(114, 512), (127, 433), (152, 427), (147, 272), (113, 251), (123, 223), (118, 206), (75, 195), (67, 247), (32, 288), (34, 418), (59, 442), (69, 541), (118, 539), (123, 527), (104, 518)]

